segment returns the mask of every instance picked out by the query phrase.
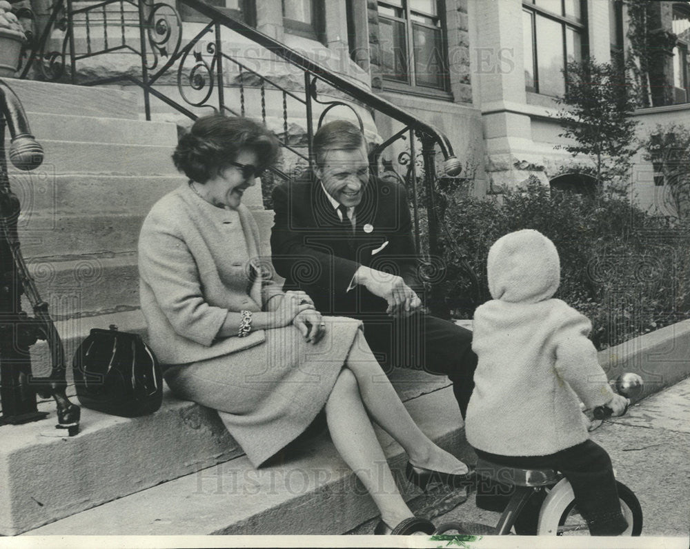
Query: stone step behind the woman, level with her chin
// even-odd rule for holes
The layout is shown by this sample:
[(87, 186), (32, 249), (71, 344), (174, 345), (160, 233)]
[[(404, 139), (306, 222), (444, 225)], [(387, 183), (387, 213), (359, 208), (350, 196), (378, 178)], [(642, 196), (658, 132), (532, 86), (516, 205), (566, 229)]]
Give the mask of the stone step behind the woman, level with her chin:
[[(10, 171), (10, 185), (19, 198), (23, 217), (30, 217), (33, 212), (43, 215), (97, 212), (146, 215), (160, 197), (186, 181), (184, 174), (46, 175), (40, 168), (32, 172)], [(252, 210), (263, 209), (260, 183), (246, 190), (242, 202)]]

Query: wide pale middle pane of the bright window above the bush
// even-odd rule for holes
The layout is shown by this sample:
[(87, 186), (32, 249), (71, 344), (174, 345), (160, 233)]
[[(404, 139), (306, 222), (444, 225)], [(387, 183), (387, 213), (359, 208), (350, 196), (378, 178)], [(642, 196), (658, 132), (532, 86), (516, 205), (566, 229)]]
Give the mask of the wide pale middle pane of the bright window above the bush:
[(537, 17), (537, 63), (539, 92), (562, 95), (563, 80), (563, 25), (546, 17)]

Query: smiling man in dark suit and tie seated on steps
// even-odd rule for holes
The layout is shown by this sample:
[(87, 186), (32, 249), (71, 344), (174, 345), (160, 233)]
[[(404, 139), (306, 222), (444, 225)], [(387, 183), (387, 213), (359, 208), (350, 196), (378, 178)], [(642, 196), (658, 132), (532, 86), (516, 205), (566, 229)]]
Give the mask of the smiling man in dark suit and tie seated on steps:
[(366, 141), (346, 121), (314, 136), (316, 167), (273, 190), (273, 265), (324, 315), (361, 319), (371, 350), (393, 366), (448, 375), (464, 417), (477, 357), (471, 332), (427, 315), (406, 190), (370, 177)]

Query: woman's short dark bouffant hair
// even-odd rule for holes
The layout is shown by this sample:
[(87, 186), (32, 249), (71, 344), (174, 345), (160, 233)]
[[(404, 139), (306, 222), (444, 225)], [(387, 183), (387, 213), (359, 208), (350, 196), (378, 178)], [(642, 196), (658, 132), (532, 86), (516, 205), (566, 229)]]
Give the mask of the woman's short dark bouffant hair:
[(278, 141), (262, 124), (248, 118), (208, 114), (180, 137), (172, 161), (175, 168), (197, 183), (206, 183), (235, 161), (240, 150), (257, 153), (259, 170), (273, 166)]

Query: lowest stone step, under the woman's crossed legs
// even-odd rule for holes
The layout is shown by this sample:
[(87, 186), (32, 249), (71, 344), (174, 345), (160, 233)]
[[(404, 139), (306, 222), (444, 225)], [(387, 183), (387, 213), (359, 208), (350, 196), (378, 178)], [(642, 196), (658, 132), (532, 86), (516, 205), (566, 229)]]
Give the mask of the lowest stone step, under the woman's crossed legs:
[[(406, 403), (433, 440), (473, 459), (450, 387)], [(398, 476), (402, 448), (377, 430)], [(404, 497), (420, 494), (400, 481)], [(275, 466), (246, 457), (155, 486), (28, 532), (30, 535), (339, 534), (377, 515), (353, 472), (325, 435), (306, 441)]]

